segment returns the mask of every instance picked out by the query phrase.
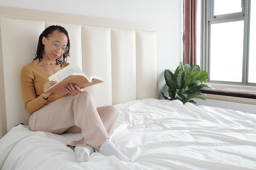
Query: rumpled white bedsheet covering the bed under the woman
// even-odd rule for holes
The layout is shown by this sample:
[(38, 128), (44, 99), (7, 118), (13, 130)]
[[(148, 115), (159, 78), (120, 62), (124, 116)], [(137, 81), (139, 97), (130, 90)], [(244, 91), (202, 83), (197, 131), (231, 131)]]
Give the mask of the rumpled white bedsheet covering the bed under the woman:
[(113, 143), (134, 162), (93, 153), (76, 162), (69, 141), (13, 127), (0, 139), (2, 170), (256, 170), (256, 115), (178, 100), (143, 99), (116, 105)]

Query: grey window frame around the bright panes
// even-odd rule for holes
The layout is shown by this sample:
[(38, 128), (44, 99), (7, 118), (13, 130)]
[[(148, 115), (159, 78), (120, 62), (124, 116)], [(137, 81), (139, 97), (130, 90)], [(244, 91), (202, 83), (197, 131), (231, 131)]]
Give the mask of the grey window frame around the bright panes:
[[(252, 86), (256, 83), (248, 82), (249, 73), (249, 32), (250, 32), (250, 3), (251, 0), (241, 0), (242, 11), (238, 13), (228, 13), (222, 15), (213, 15), (214, 0), (201, 0), (201, 67), (203, 70), (209, 73), (209, 77), (206, 80), (208, 84), (230, 84), (230, 85), (243, 85)], [(243, 71), (241, 82), (225, 82), (210, 80), (210, 34), (211, 24), (244, 21), (244, 41), (243, 41)]]

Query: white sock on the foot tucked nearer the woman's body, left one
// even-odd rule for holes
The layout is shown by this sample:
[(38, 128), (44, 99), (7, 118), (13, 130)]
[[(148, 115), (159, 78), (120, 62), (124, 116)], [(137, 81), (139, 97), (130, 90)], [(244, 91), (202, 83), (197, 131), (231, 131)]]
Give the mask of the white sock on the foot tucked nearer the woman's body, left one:
[(90, 146), (75, 146), (76, 161), (86, 162), (93, 153), (93, 148)]

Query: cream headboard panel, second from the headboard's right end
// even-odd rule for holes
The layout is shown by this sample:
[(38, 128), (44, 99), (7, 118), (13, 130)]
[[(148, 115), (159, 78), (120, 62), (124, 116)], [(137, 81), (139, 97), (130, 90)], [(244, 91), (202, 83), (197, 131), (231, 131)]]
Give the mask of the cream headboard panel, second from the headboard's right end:
[[(113, 102), (136, 97), (135, 30), (111, 29)], [(124, 97), (125, 96), (125, 97)]]

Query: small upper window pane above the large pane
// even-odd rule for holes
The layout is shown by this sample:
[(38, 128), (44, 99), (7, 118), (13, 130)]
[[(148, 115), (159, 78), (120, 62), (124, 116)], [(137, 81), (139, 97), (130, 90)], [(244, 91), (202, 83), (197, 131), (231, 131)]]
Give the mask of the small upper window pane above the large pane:
[(242, 12), (241, 0), (214, 0), (213, 15)]

